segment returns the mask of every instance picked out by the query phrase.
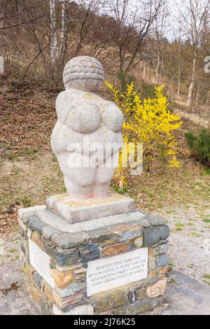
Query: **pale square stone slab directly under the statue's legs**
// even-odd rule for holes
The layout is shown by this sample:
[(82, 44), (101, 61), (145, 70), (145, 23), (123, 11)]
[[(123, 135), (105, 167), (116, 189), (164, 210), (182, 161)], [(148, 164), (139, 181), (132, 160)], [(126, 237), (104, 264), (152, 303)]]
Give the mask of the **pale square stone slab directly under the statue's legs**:
[(131, 213), (134, 200), (117, 193), (109, 193), (105, 200), (72, 201), (69, 195), (53, 195), (46, 200), (47, 209), (70, 224), (106, 216)]

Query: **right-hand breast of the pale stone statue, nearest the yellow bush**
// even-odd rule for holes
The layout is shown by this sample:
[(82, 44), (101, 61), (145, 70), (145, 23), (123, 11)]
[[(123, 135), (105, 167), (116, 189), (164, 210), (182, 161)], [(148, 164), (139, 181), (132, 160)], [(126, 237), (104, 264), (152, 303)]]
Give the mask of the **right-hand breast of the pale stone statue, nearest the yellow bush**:
[(104, 102), (99, 106), (102, 122), (113, 132), (120, 132), (123, 127), (123, 113), (118, 109), (118, 106), (112, 102)]

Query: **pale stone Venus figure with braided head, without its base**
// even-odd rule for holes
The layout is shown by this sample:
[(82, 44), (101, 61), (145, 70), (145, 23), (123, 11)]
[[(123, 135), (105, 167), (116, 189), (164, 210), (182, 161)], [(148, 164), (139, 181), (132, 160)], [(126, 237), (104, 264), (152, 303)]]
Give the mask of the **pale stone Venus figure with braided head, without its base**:
[(56, 99), (51, 146), (74, 201), (106, 199), (123, 147), (123, 113), (95, 93), (103, 79), (97, 59), (75, 57), (64, 68), (65, 90)]

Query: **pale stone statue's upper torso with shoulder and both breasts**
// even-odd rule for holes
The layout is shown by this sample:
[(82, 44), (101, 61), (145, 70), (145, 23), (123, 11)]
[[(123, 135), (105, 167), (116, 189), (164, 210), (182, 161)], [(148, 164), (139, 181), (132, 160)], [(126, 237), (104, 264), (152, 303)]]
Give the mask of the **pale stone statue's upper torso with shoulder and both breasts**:
[(91, 134), (105, 125), (114, 133), (123, 126), (123, 113), (118, 106), (97, 94), (69, 90), (61, 92), (56, 101), (57, 117), (73, 132)]

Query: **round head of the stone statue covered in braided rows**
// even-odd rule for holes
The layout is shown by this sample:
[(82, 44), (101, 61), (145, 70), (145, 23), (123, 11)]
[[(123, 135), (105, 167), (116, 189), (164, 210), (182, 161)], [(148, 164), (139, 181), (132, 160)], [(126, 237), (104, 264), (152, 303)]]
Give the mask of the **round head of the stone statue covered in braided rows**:
[(74, 88), (94, 92), (104, 80), (104, 69), (94, 57), (74, 57), (66, 63), (63, 80), (66, 90)]

